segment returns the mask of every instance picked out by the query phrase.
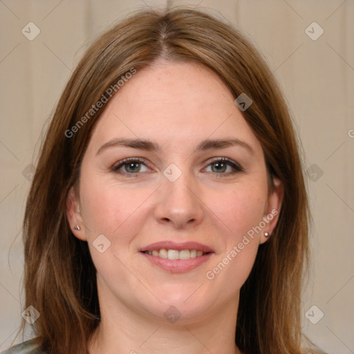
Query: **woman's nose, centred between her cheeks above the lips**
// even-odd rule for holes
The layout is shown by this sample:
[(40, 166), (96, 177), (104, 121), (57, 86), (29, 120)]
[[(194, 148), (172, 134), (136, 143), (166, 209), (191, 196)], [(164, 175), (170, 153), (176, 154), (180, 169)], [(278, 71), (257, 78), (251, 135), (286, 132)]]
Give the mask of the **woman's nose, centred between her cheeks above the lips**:
[(174, 182), (162, 177), (158, 188), (155, 217), (158, 223), (172, 223), (176, 228), (195, 227), (203, 220), (201, 192), (187, 172)]

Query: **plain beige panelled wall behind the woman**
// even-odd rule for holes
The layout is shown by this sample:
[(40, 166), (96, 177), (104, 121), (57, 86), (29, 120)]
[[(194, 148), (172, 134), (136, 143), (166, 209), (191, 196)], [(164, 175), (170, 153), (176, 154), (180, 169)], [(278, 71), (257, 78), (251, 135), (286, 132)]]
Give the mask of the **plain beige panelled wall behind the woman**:
[[(314, 225), (304, 330), (328, 353), (354, 353), (353, 0), (169, 3), (220, 12), (254, 40), (281, 82), (304, 167), (317, 165), (306, 174)], [(21, 222), (44, 124), (88, 43), (129, 11), (156, 4), (166, 1), (0, 0), (0, 351), (21, 320)], [(32, 41), (21, 33), (30, 21), (41, 31)], [(313, 21), (324, 30), (317, 40), (305, 32)], [(305, 317), (313, 305), (313, 322), (324, 313), (317, 324)]]

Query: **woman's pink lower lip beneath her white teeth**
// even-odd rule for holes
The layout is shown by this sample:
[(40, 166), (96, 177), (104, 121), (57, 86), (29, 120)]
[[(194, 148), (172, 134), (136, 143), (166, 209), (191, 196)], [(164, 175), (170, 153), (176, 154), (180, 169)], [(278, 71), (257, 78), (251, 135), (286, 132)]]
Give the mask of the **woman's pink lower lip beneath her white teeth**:
[(197, 268), (199, 265), (205, 263), (212, 257), (214, 253), (207, 253), (203, 256), (189, 258), (189, 259), (167, 259), (161, 258), (158, 256), (152, 256), (151, 254), (140, 252), (148, 261), (158, 267), (168, 270), (173, 273), (183, 273), (188, 272), (194, 268)]

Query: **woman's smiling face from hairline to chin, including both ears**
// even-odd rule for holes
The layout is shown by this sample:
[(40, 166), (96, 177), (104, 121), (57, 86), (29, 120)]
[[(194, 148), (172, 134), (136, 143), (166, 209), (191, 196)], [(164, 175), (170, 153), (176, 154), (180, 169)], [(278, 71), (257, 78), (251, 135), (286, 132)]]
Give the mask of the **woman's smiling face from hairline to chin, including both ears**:
[[(268, 191), (261, 145), (216, 74), (176, 62), (137, 71), (107, 103), (82, 160), (80, 196), (68, 197), (100, 304), (185, 322), (236, 306), (277, 221), (275, 184)], [(202, 245), (211, 252), (190, 252)]]

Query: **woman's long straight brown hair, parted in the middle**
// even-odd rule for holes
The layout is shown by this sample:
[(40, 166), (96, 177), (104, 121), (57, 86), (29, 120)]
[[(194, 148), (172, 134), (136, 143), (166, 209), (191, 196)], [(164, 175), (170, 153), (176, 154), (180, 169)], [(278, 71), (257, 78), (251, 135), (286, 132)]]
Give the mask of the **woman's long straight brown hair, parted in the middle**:
[(263, 147), (270, 176), (283, 183), (284, 195), (277, 227), (259, 247), (241, 288), (235, 342), (245, 354), (303, 353), (300, 298), (309, 212), (290, 113), (251, 42), (225, 21), (188, 8), (133, 13), (94, 41), (62, 93), (24, 217), (25, 308), (34, 306), (40, 313), (33, 325), (35, 340), (48, 353), (88, 352), (88, 339), (100, 323), (96, 272), (87, 243), (68, 225), (66, 196), (77, 185), (104, 105), (93, 115), (87, 112), (110, 87), (115, 85), (119, 95), (117, 82), (132, 68), (139, 71), (161, 58), (207, 66), (235, 98), (241, 93), (252, 98), (243, 116)]

